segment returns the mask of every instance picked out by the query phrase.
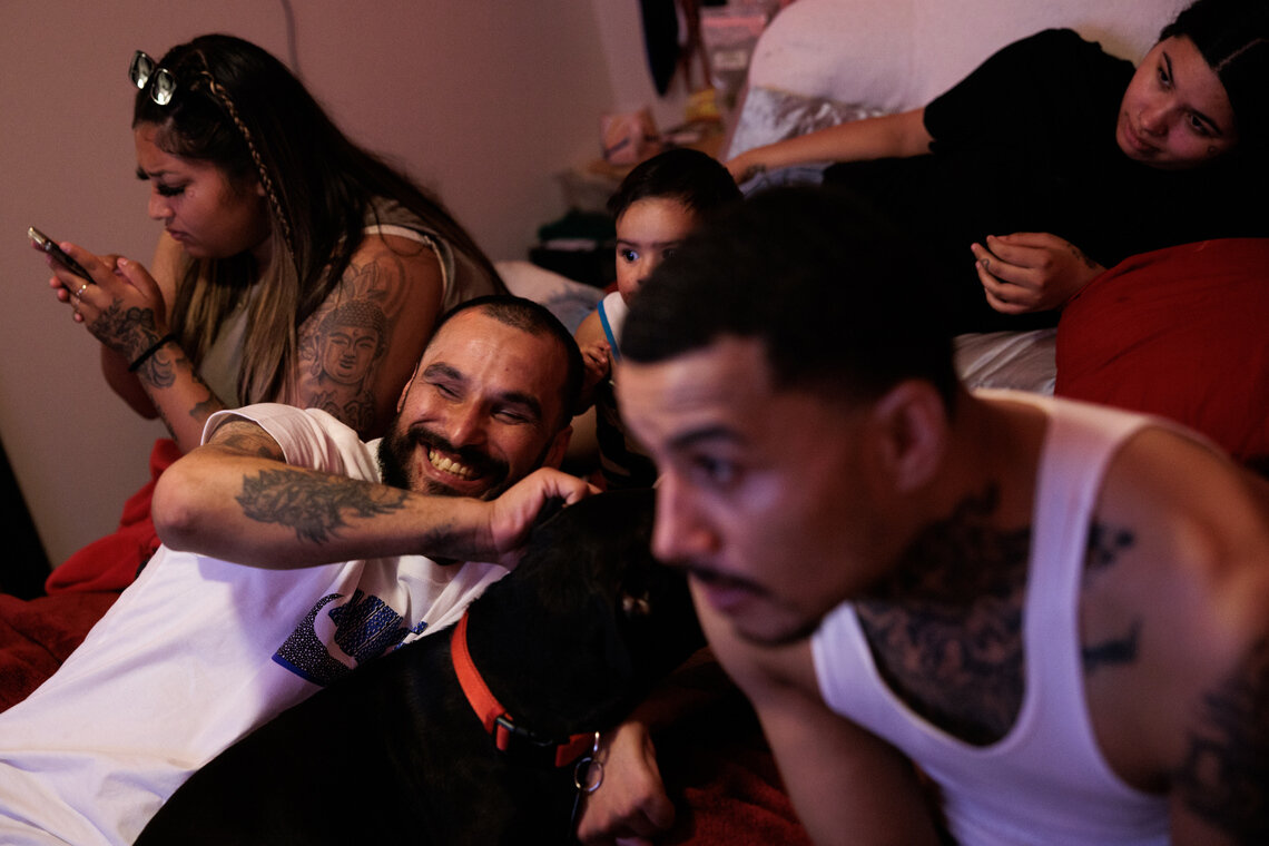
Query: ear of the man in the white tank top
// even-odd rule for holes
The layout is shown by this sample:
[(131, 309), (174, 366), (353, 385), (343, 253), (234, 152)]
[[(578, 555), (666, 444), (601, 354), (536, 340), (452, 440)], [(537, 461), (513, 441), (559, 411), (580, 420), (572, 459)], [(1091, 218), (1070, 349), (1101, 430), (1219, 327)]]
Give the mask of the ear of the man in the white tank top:
[(897, 493), (919, 490), (938, 472), (949, 421), (943, 397), (933, 384), (900, 382), (873, 403), (868, 424), (874, 455)]

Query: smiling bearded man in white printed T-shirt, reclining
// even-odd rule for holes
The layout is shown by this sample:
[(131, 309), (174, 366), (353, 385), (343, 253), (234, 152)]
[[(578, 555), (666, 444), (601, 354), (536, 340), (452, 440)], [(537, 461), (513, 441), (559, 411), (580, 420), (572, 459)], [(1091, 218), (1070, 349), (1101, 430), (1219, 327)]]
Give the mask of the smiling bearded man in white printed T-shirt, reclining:
[[(511, 563), (548, 498), (588, 493), (534, 472), (563, 455), (580, 383), (549, 312), (486, 298), (437, 327), (378, 448), (315, 410), (213, 417), (155, 493), (166, 545), (0, 715), (0, 842), (131, 843), (230, 743), (457, 621), (506, 572), (471, 562)], [(377, 728), (331, 726), (312, 742)]]

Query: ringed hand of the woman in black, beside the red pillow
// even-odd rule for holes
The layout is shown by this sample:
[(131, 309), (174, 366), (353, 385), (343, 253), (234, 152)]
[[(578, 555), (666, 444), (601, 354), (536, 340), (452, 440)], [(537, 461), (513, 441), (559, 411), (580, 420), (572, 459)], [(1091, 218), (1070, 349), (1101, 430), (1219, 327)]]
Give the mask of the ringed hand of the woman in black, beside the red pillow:
[(1105, 270), (1063, 238), (1048, 232), (989, 235), (970, 246), (987, 302), (1005, 315), (1061, 308)]

